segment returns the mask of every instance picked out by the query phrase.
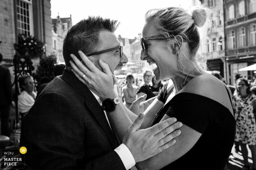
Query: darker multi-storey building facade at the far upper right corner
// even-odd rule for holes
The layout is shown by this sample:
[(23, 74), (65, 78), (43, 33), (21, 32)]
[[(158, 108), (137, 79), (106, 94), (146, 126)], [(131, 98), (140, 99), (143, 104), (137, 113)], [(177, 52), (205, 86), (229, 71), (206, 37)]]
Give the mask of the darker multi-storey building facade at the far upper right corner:
[(253, 71), (239, 69), (256, 63), (256, 0), (224, 0), (227, 81), (235, 75), (255, 79)]

